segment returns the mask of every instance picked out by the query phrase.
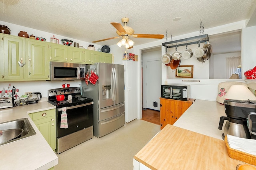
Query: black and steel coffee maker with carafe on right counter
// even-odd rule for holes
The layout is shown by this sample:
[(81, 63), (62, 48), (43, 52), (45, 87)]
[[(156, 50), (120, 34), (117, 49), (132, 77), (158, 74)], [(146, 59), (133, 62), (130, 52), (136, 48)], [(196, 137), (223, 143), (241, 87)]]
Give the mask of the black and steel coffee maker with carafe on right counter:
[(256, 101), (231, 100), (224, 101), (226, 117), (220, 117), (219, 129), (222, 130), (224, 121), (224, 133), (241, 138), (256, 139)]

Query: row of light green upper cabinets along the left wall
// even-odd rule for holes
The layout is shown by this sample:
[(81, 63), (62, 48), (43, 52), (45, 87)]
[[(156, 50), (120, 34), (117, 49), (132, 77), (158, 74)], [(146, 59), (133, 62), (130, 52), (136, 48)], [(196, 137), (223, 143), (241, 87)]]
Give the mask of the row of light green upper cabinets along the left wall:
[[(112, 63), (112, 54), (0, 34), (0, 81), (50, 80), (50, 61)], [(24, 63), (20, 66), (18, 62)]]

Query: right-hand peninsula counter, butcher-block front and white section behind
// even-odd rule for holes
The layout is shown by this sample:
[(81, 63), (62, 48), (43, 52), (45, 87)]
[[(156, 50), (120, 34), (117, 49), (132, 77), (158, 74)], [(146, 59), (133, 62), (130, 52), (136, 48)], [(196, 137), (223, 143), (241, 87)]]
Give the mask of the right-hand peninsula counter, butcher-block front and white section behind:
[(224, 105), (196, 100), (134, 156), (134, 170), (236, 169), (242, 162), (228, 156), (223, 130), (218, 129), (221, 116)]

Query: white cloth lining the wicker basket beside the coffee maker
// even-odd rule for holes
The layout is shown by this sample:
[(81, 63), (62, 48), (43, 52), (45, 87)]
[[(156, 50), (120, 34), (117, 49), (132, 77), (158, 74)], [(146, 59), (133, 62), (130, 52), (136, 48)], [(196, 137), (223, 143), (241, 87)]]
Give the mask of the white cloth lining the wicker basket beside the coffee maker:
[(228, 145), (230, 148), (252, 154), (256, 156), (256, 140), (240, 138), (227, 134)]

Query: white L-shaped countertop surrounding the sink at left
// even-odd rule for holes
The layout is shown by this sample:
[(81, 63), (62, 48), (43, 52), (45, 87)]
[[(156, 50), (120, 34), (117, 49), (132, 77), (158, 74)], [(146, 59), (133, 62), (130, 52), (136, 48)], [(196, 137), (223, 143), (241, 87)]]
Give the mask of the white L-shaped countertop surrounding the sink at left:
[(36, 134), (0, 146), (0, 168), (5, 170), (47, 170), (58, 164), (58, 157), (46, 142), (28, 113), (55, 109), (47, 101), (0, 109), (0, 123), (28, 118)]

